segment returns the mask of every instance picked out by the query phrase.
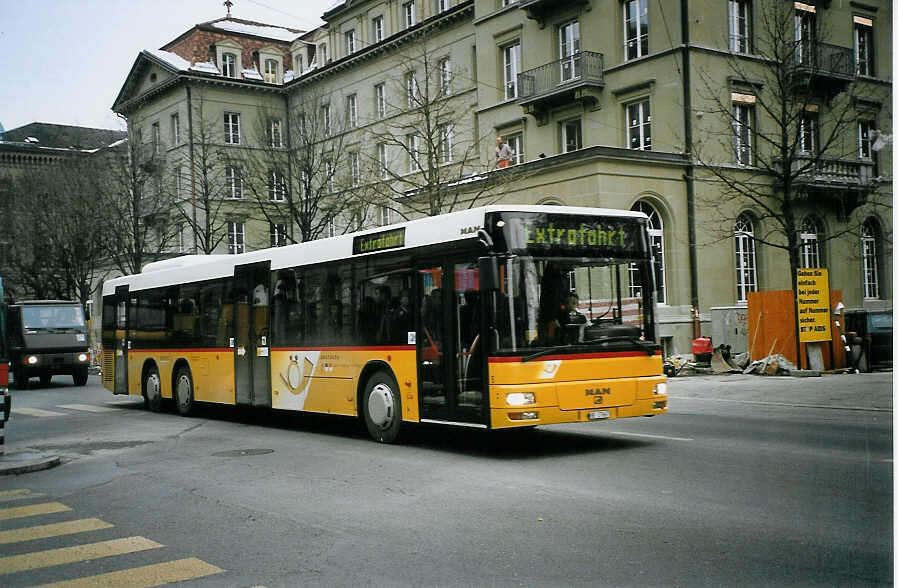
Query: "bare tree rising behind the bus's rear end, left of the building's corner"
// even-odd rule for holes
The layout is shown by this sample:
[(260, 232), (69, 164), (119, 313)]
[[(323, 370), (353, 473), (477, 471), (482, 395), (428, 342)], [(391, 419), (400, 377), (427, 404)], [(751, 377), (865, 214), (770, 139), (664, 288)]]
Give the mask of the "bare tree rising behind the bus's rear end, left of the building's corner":
[(110, 239), (107, 257), (123, 274), (140, 273), (146, 263), (163, 256), (175, 237), (165, 158), (159, 145), (142, 143), (129, 129), (126, 140), (93, 159)]

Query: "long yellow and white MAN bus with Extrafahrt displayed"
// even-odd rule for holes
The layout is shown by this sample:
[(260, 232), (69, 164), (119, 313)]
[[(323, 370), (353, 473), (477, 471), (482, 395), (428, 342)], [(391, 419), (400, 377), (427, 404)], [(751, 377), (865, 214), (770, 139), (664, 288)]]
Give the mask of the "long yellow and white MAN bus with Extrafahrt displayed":
[(502, 429), (667, 412), (639, 212), (487, 206), (103, 286), (103, 383), (142, 396)]

